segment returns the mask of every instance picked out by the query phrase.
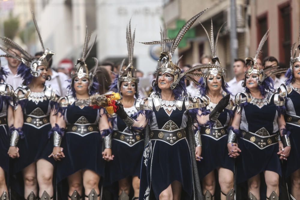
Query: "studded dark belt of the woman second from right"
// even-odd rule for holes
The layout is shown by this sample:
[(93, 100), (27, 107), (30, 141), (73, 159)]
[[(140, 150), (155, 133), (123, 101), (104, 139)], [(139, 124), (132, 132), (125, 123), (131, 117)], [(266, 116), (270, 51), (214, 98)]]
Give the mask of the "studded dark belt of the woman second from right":
[(278, 132), (274, 133), (274, 135), (271, 136), (259, 136), (255, 133), (251, 133), (245, 130), (241, 130), (241, 133), (243, 135), (243, 139), (254, 143), (258, 148), (261, 149), (266, 148), (270, 145), (274, 145), (278, 142)]

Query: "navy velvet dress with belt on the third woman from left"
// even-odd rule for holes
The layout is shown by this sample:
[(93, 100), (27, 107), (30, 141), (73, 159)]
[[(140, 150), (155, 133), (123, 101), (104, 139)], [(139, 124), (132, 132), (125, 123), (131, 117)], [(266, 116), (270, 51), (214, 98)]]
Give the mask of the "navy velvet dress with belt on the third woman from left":
[(58, 183), (81, 169), (104, 175), (102, 137), (98, 129), (99, 110), (90, 106), (81, 108), (75, 104), (68, 104), (62, 113), (67, 128), (61, 141), (65, 157), (57, 162)]

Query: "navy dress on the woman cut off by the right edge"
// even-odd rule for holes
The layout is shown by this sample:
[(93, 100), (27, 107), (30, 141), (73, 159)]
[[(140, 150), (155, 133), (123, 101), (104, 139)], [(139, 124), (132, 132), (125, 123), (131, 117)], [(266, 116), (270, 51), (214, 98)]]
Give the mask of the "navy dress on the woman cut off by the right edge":
[(298, 123), (300, 119), (300, 89), (294, 88), (290, 84), (282, 86), (280, 88), (286, 92), (286, 129), (291, 131), (289, 135), (291, 151), (288, 159), (283, 161), (283, 172), (285, 173), (285, 177), (289, 177), (293, 172), (300, 169), (300, 123)]

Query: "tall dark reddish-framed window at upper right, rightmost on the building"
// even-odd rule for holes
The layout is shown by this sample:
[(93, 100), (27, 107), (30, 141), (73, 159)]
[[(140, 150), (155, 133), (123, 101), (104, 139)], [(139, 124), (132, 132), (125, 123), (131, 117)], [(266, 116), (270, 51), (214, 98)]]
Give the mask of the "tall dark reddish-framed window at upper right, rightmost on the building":
[(289, 5), (279, 7), (279, 61), (289, 66), (291, 48), (291, 8)]

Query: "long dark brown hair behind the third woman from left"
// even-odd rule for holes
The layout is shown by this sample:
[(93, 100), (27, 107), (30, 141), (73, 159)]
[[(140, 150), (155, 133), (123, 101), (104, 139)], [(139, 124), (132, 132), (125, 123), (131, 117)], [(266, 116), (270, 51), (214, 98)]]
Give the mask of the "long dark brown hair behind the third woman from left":
[(107, 72), (107, 70), (104, 67), (98, 66), (91, 69), (91, 72), (94, 73), (94, 70), (96, 69), (96, 75), (95, 78), (97, 79), (99, 83), (99, 94), (105, 94), (107, 91), (109, 91), (111, 79), (110, 75)]

